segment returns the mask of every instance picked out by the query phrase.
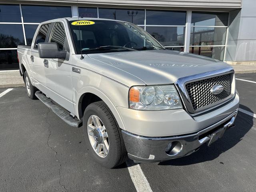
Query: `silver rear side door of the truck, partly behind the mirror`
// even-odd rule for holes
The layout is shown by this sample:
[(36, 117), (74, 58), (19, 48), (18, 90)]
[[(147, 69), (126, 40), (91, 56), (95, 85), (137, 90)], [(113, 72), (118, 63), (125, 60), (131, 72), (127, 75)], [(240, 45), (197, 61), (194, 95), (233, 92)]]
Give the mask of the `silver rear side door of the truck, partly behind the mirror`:
[(50, 23), (43, 24), (36, 36), (34, 44), (31, 46), (30, 60), (32, 64), (32, 78), (35, 86), (41, 91), (45, 90), (46, 78), (44, 70), (44, 59), (39, 57), (38, 54), (38, 43), (47, 42), (48, 32), (50, 30)]

